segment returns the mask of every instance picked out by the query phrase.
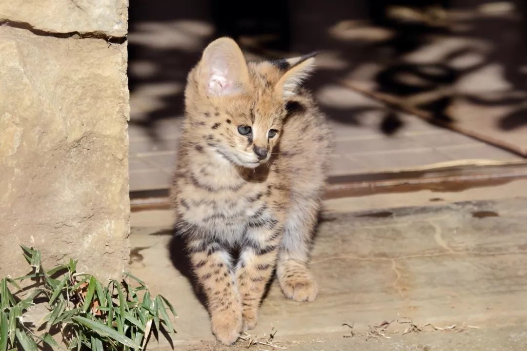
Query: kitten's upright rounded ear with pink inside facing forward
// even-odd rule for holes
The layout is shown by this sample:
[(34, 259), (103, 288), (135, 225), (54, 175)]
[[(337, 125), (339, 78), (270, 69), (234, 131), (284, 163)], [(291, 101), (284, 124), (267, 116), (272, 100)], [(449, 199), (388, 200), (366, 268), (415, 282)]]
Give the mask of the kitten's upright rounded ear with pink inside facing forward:
[(209, 96), (236, 95), (249, 83), (247, 63), (231, 38), (216, 39), (203, 51), (198, 81)]

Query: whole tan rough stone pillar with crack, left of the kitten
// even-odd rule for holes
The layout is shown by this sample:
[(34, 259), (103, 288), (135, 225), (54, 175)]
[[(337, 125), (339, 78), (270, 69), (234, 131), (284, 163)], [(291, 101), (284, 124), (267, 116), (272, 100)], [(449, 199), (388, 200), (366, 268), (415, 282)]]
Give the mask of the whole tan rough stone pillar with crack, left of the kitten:
[(128, 0), (0, 1), (0, 276), (129, 259)]

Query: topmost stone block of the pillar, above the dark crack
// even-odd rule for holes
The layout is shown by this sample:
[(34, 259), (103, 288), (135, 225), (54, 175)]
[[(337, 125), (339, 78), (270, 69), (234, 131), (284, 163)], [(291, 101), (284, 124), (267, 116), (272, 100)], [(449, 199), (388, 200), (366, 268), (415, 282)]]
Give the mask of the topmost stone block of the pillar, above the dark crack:
[(6, 0), (0, 2), (2, 20), (44, 32), (122, 37), (128, 32), (128, 0)]

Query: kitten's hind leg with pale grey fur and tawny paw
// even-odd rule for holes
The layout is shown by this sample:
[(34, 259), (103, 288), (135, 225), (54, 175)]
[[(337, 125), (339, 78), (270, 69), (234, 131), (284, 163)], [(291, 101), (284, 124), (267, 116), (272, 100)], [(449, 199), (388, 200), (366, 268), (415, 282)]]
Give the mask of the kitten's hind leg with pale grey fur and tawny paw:
[(318, 200), (292, 203), (284, 227), (276, 274), (284, 295), (295, 301), (313, 301), (318, 295), (318, 285), (308, 268), (318, 208)]

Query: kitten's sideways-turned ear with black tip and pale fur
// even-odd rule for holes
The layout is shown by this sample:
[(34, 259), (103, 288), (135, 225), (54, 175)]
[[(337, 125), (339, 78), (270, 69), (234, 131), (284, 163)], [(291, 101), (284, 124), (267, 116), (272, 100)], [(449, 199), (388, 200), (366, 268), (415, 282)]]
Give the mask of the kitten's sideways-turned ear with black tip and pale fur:
[(315, 55), (311, 53), (300, 57), (288, 58), (281, 61), (279, 66), (287, 69), (275, 86), (275, 91), (282, 97), (295, 95), (298, 87), (315, 69)]

